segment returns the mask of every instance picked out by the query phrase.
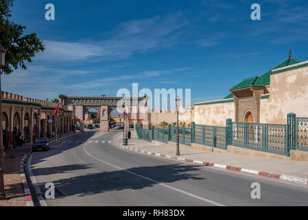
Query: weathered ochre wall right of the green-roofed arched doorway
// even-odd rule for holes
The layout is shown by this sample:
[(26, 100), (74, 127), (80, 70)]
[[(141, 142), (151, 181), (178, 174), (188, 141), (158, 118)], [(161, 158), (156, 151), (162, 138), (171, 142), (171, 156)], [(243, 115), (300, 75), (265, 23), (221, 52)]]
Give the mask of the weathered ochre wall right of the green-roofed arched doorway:
[(308, 117), (308, 67), (270, 76), (270, 98), (261, 100), (260, 122), (286, 124), (287, 113)]

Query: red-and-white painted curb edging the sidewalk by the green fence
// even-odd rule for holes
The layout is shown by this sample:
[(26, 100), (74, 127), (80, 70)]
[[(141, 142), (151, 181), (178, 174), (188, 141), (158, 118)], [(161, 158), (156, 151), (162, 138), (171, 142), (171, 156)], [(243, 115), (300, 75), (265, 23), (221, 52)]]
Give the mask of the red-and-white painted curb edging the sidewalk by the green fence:
[(119, 146), (121, 148), (128, 149), (130, 151), (137, 152), (137, 153), (143, 153), (143, 154), (146, 154), (146, 155), (152, 155), (152, 156), (156, 156), (156, 157), (164, 157), (164, 158), (167, 158), (167, 159), (176, 159), (176, 160), (188, 162), (188, 163), (191, 163), (191, 164), (199, 164), (199, 165), (202, 165), (202, 166), (212, 166), (212, 167), (221, 168), (221, 169), (224, 169), (224, 170), (237, 171), (237, 172), (241, 172), (241, 173), (248, 173), (248, 174), (259, 175), (259, 176), (263, 176), (263, 177), (270, 177), (270, 178), (280, 179), (281, 181), (289, 181), (289, 182), (292, 182), (294, 184), (300, 184), (300, 185), (303, 185), (303, 186), (308, 186), (308, 179), (304, 179), (304, 178), (300, 178), (300, 177), (292, 177), (292, 176), (280, 175), (280, 174), (275, 174), (275, 173), (267, 173), (267, 172), (263, 172), (263, 171), (249, 170), (249, 169), (236, 167), (236, 166), (214, 164), (214, 163), (210, 163), (210, 162), (202, 162), (202, 161), (193, 160), (193, 159), (185, 159), (185, 158), (182, 158), (182, 157), (163, 155), (163, 154), (160, 154), (160, 153), (152, 153), (152, 152), (143, 151), (143, 150), (140, 150), (140, 149), (137, 149), (137, 148), (130, 148), (128, 146), (123, 146), (121, 144), (117, 144), (117, 146)]

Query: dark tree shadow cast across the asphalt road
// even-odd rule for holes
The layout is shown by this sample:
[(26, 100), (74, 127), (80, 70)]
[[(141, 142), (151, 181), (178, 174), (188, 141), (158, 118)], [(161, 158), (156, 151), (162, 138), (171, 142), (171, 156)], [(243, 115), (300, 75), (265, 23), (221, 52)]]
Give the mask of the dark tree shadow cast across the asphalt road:
[[(78, 168), (88, 168), (88, 164), (84, 166), (75, 165), (75, 167), (59, 166), (39, 169), (40, 173), (45, 173), (45, 175), (47, 175), (48, 173), (56, 173), (58, 171), (66, 173)], [(154, 181), (138, 177), (137, 175), (132, 175), (132, 173), (137, 173), (138, 175), (153, 178), (155, 181), (160, 183), (172, 183), (183, 179), (204, 179), (198, 177), (196, 174), (193, 174), (199, 169), (200, 166), (197, 165), (188, 166), (182, 164), (140, 166), (128, 168), (127, 170), (91, 173), (88, 175), (80, 175), (78, 177), (59, 179), (58, 181), (54, 181), (54, 185), (56, 190), (62, 192), (65, 196), (79, 195), (80, 197), (84, 197), (87, 195), (95, 195), (110, 191), (139, 190), (158, 184)], [(43, 186), (41, 187), (43, 188)]]

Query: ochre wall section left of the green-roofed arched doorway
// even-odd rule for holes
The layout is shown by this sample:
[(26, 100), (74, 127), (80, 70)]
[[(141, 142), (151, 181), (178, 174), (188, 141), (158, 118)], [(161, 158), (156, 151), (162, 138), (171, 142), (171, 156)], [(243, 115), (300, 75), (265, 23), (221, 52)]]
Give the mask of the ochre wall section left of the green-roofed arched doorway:
[(235, 120), (234, 102), (196, 105), (193, 120), (196, 124), (226, 126), (226, 119)]

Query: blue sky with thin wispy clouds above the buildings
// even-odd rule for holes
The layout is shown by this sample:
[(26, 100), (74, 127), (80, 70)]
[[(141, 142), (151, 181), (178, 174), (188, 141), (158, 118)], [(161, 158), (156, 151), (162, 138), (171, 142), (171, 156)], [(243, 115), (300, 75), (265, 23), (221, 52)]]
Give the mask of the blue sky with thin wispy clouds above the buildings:
[[(55, 20), (45, 19), (45, 5)], [(261, 20), (252, 21), (252, 3)], [(220, 100), (245, 78), (292, 56), (308, 60), (307, 1), (16, 0), (12, 21), (45, 45), (2, 89), (46, 100), (117, 96), (122, 88), (191, 89), (191, 104)]]

